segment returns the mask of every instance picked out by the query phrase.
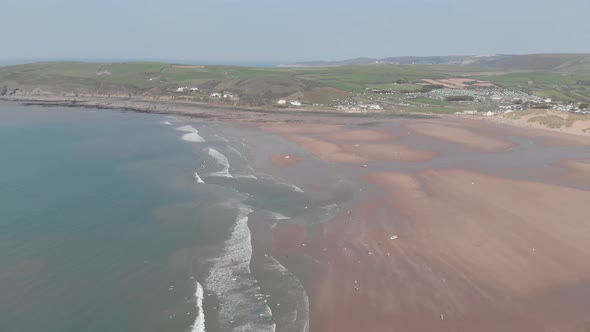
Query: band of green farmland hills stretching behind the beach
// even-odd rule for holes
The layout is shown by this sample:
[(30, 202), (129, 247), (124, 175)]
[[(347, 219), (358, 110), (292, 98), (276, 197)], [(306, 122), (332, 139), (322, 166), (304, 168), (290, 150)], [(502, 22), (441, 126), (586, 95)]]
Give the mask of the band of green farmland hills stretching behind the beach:
[[(449, 65), (351, 65), (314, 68), (249, 68), (238, 66), (190, 66), (161, 62), (83, 63), (42, 62), (0, 67), (0, 85), (22, 90), (97, 94), (175, 94), (182, 86), (198, 87), (208, 98), (211, 92), (227, 91), (243, 105), (276, 104), (295, 98), (331, 105), (349, 98), (387, 105), (450, 112), (461, 104), (430, 98), (406, 99), (408, 92), (422, 89), (423, 79), (465, 77), (489, 80), (498, 86), (564, 101), (590, 101), (590, 73), (499, 70)], [(379, 94), (378, 90), (392, 93)], [(190, 96), (186, 96), (187, 98)], [(483, 107), (483, 106), (482, 106)], [(392, 108), (396, 108), (392, 106)], [(470, 109), (477, 108), (477, 105)]]

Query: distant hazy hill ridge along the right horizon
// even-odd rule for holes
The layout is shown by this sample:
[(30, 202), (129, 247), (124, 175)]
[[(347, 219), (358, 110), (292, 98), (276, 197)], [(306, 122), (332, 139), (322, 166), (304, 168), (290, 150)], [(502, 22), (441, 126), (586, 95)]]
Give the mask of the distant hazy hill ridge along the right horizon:
[(323, 67), (368, 64), (460, 65), (515, 70), (551, 70), (564, 72), (590, 71), (590, 54), (500, 54), (458, 56), (401, 56), (389, 58), (356, 58), (343, 61), (310, 61), (282, 66)]

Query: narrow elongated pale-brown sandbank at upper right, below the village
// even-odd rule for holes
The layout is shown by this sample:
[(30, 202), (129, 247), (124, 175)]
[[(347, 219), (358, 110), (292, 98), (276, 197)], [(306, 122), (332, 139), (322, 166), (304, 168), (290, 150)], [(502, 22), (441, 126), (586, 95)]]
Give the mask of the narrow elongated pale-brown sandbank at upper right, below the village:
[(443, 124), (426, 122), (407, 123), (406, 128), (426, 136), (455, 143), (469, 149), (480, 151), (503, 151), (512, 146), (508, 141), (486, 136), (463, 128), (454, 128)]

